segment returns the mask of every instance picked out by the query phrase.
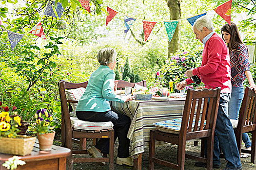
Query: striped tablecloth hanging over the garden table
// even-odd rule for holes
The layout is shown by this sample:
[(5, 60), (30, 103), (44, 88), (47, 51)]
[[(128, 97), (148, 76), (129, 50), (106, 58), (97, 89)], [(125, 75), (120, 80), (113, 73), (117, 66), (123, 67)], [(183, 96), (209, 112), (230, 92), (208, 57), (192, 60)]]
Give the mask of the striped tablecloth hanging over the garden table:
[[(110, 105), (118, 113), (131, 118), (131, 125), (127, 137), (132, 140), (131, 156), (138, 158), (144, 148), (149, 147), (149, 131), (154, 129), (153, 123), (168, 119), (181, 118), (185, 98), (170, 99), (168, 101), (130, 101), (113, 102)], [(156, 141), (157, 146), (166, 144)]]

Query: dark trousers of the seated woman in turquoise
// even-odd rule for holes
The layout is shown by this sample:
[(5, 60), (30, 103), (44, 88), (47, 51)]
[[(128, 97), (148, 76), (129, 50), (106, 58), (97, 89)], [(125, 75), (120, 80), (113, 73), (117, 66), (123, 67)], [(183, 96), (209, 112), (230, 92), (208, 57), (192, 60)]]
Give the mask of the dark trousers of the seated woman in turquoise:
[[(106, 112), (91, 112), (91, 111), (78, 111), (76, 112), (78, 119), (92, 121), (92, 122), (103, 122), (112, 121), (114, 124), (113, 129), (115, 130), (115, 141), (118, 137), (118, 157), (126, 158), (129, 157), (130, 139), (127, 138), (127, 133), (131, 124), (131, 119), (128, 116), (116, 113), (114, 111)], [(109, 153), (109, 138), (100, 138), (95, 145), (101, 153)]]

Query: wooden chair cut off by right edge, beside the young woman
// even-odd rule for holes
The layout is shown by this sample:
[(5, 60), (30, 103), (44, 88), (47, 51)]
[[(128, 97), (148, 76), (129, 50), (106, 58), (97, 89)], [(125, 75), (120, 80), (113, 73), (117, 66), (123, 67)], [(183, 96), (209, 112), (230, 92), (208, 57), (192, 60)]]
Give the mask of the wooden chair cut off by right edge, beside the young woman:
[[(239, 113), (237, 128), (235, 130), (238, 151), (251, 154), (251, 163), (255, 163), (256, 155), (256, 94), (253, 89), (245, 88), (243, 102)], [(252, 150), (241, 149), (242, 134), (252, 134)]]

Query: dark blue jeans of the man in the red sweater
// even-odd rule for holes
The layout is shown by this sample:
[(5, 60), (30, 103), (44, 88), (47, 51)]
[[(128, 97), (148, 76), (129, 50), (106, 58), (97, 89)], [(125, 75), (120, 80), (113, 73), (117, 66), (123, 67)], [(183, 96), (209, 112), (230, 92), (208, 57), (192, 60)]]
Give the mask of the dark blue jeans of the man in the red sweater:
[[(228, 93), (220, 93), (218, 114), (214, 136), (214, 165), (220, 165), (219, 146), (228, 161), (226, 167), (241, 167), (240, 155), (236, 145), (236, 136), (228, 118), (228, 102), (230, 95)], [(204, 153), (207, 155), (207, 142), (205, 141)]]

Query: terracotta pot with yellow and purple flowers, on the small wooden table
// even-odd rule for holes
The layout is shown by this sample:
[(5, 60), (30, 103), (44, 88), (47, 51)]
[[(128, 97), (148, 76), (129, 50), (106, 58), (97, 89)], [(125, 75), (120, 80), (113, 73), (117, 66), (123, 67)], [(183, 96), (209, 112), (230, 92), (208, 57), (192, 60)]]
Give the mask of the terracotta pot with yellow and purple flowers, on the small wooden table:
[(39, 148), (41, 151), (50, 151), (55, 136), (55, 126), (51, 126), (53, 117), (46, 109), (39, 109), (35, 113), (35, 118), (37, 119), (35, 127), (31, 129), (38, 134)]

